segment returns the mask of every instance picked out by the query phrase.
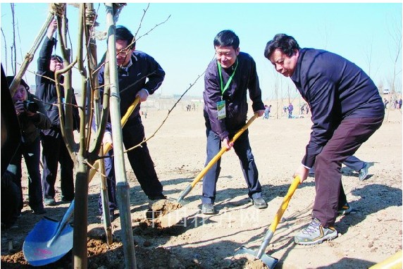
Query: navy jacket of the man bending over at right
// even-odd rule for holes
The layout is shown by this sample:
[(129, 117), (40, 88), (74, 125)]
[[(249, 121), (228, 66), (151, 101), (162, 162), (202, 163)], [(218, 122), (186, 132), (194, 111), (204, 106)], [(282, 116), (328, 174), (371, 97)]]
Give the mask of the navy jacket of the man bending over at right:
[(377, 118), (385, 114), (378, 88), (371, 78), (337, 54), (300, 49), (290, 78), (311, 107), (314, 125), (302, 160), (309, 168), (342, 120)]

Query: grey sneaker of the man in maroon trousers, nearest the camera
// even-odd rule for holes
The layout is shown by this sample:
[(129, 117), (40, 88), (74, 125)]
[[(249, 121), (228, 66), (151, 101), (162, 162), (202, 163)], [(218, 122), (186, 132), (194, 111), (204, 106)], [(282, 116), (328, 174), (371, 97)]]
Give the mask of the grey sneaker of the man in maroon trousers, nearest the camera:
[(300, 245), (321, 244), (325, 240), (332, 240), (337, 237), (335, 227), (325, 228), (317, 218), (314, 218), (308, 227), (302, 229), (294, 236), (294, 242)]

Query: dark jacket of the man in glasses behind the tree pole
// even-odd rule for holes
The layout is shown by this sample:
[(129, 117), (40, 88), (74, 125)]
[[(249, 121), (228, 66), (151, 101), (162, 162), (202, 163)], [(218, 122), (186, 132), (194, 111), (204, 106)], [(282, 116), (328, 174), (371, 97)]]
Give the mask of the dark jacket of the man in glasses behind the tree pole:
[[(99, 70), (98, 81), (99, 86), (104, 82), (104, 66)], [(137, 92), (141, 89), (147, 89), (149, 94), (154, 94), (165, 77), (165, 72), (154, 58), (142, 51), (135, 51), (132, 54), (132, 65), (128, 68), (128, 72), (119, 72), (119, 92), (120, 92), (120, 116), (123, 117), (129, 106), (135, 101)], [(101, 87), (103, 92), (103, 87)], [(140, 104), (137, 105), (135, 111), (128, 119), (126, 125), (137, 123), (140, 117)], [(108, 127), (109, 129), (109, 127)]]

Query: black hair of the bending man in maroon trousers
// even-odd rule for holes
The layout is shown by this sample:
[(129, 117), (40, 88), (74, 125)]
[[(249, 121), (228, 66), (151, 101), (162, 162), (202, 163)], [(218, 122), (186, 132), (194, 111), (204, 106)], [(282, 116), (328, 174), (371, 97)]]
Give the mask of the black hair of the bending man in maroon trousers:
[(294, 37), (285, 34), (277, 34), (266, 44), (266, 49), (264, 49), (264, 56), (270, 59), (271, 54), (276, 49), (280, 49), (283, 53), (289, 57), (294, 54), (294, 50), (297, 49), (299, 51), (299, 44)]

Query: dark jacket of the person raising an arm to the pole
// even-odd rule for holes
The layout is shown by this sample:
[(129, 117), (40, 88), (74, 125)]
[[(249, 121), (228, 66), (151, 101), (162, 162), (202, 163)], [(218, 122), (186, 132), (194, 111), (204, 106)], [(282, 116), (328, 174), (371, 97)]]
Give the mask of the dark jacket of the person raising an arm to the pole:
[[(37, 61), (37, 76), (35, 78), (37, 83), (37, 90), (35, 95), (44, 102), (44, 108), (46, 115), (51, 120), (51, 129), (42, 130), (45, 135), (52, 135), (57, 137), (60, 134), (60, 119), (58, 115), (58, 107), (51, 104), (57, 104), (57, 92), (56, 83), (49, 80), (47, 77), (54, 79), (54, 72), (49, 69), (51, 55), (53, 47), (56, 43), (56, 39), (49, 39), (45, 37), (42, 44), (41, 51), (39, 51), (39, 58)], [(63, 82), (63, 76), (61, 77), (61, 83)], [(60, 87), (61, 94), (64, 96), (63, 86)], [(73, 104), (77, 104), (75, 96), (72, 96)], [(80, 126), (80, 116), (78, 114), (78, 108), (73, 107), (73, 125), (74, 130), (78, 130)]]

